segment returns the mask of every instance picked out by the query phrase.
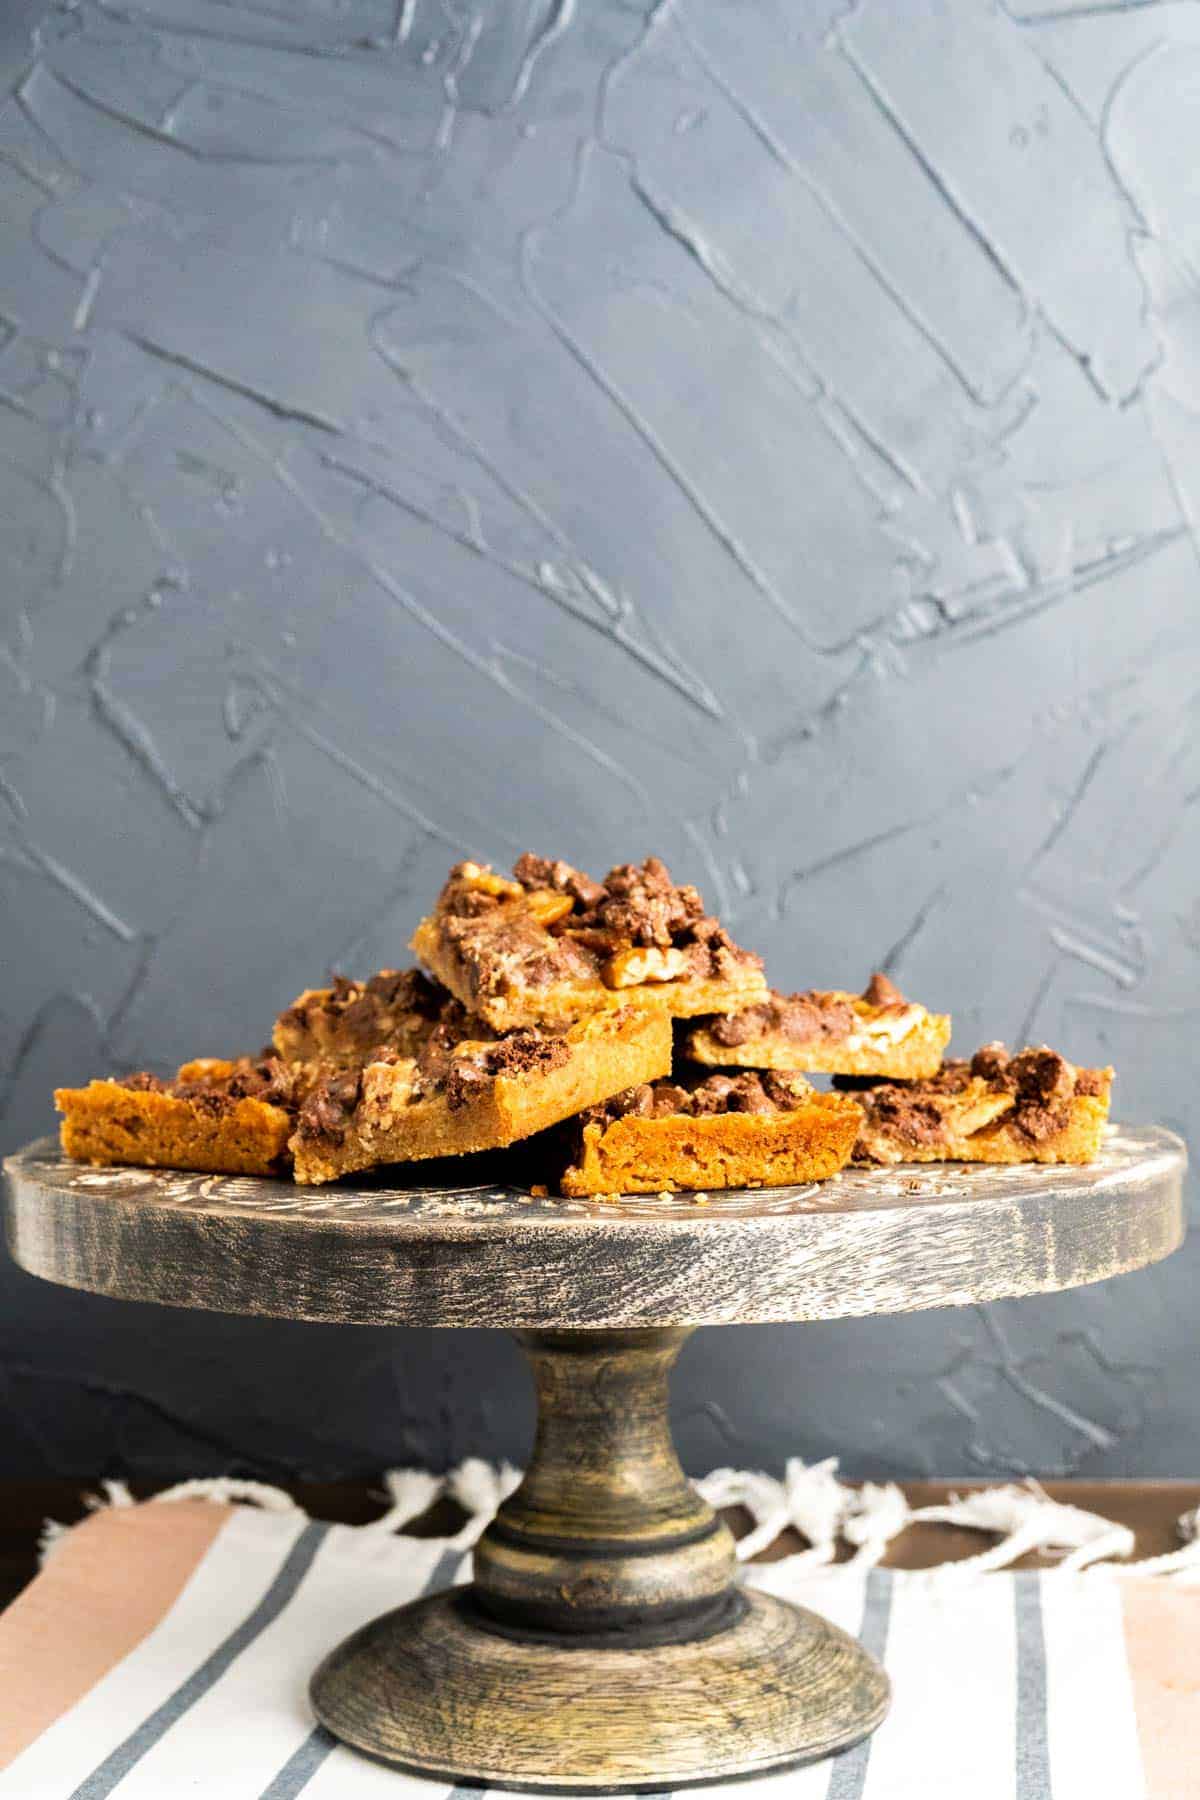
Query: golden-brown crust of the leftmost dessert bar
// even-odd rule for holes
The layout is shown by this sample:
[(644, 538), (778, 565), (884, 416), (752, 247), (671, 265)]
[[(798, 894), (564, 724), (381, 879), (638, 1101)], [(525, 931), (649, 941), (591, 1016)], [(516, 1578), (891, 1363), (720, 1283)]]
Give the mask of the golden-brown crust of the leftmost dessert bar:
[[(209, 1076), (232, 1064), (209, 1064)], [(203, 1082), (196, 1064), (191, 1082)], [(291, 1112), (264, 1100), (234, 1100), (210, 1111), (198, 1098), (131, 1089), (97, 1080), (59, 1087), (61, 1139), (79, 1163), (135, 1163), (149, 1168), (194, 1168), (218, 1175), (277, 1175), (288, 1166)]]

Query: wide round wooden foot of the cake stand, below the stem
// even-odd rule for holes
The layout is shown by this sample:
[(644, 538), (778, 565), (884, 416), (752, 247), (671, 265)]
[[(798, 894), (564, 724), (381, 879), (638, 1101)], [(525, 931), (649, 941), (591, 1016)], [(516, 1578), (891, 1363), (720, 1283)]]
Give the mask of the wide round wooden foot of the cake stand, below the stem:
[(765, 1775), (846, 1750), (887, 1712), (887, 1676), (853, 1638), (765, 1593), (725, 1631), (640, 1651), (515, 1642), (439, 1593), (356, 1631), (311, 1692), (354, 1750), (547, 1793)]

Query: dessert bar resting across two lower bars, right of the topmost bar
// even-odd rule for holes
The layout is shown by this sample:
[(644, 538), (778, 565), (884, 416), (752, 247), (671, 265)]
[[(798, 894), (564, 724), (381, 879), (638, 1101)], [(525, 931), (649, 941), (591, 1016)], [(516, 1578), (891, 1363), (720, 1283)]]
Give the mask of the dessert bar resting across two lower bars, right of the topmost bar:
[(810, 988), (772, 992), (756, 1004), (707, 1019), (687, 1037), (687, 1057), (707, 1067), (804, 1069), (919, 1080), (941, 1064), (950, 1017), (907, 1001), (885, 976), (864, 994)]

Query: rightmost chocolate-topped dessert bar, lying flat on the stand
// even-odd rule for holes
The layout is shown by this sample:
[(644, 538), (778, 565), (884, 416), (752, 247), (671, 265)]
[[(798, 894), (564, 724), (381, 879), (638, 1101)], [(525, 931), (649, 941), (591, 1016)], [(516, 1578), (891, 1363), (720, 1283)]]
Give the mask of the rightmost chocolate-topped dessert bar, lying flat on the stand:
[(1011, 1057), (984, 1044), (928, 1080), (855, 1087), (855, 1161), (1090, 1163), (1110, 1089), (1112, 1069), (1078, 1069), (1045, 1046)]

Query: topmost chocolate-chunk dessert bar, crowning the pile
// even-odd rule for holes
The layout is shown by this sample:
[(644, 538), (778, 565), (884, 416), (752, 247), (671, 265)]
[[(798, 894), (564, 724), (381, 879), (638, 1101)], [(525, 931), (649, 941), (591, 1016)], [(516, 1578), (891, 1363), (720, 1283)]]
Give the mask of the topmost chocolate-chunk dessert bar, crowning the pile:
[(515, 877), (457, 864), (412, 938), (419, 961), (497, 1031), (565, 1026), (626, 1001), (696, 1017), (766, 992), (759, 959), (655, 857), (596, 882), (525, 855)]

